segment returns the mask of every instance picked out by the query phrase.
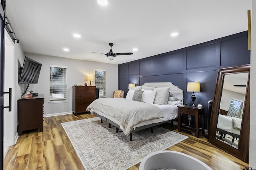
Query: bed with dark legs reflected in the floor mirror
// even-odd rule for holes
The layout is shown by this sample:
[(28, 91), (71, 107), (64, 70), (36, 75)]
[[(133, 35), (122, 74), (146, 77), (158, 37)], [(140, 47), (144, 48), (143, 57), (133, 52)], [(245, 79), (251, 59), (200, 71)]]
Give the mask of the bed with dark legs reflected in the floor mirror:
[[(234, 139), (239, 139), (241, 123), (242, 119), (219, 114), (217, 124), (217, 131), (220, 132), (219, 139), (236, 146)], [(226, 134), (232, 137), (232, 141), (225, 139)]]

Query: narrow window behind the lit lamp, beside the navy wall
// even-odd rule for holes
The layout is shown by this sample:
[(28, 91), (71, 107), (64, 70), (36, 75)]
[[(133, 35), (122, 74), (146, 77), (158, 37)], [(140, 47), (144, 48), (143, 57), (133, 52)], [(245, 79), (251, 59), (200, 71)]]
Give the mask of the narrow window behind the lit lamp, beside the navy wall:
[(99, 88), (99, 97), (106, 97), (106, 70), (95, 70), (95, 86)]

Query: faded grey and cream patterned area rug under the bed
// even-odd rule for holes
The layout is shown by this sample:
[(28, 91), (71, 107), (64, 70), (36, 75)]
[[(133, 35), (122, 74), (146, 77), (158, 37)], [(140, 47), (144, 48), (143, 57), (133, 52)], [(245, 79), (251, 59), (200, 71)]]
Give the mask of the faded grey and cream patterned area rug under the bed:
[(99, 117), (61, 124), (86, 170), (126, 170), (146, 155), (188, 138), (156, 126), (154, 133), (150, 128), (133, 133), (130, 141), (129, 135), (116, 133)]

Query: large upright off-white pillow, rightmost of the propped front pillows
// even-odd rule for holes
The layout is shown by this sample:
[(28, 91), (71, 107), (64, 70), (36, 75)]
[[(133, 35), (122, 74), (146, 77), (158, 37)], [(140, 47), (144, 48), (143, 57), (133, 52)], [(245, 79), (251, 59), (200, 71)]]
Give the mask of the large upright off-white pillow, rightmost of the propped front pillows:
[(154, 100), (154, 104), (162, 104), (162, 105), (167, 104), (170, 87), (158, 87), (158, 88), (154, 88), (154, 90), (156, 90), (156, 97)]

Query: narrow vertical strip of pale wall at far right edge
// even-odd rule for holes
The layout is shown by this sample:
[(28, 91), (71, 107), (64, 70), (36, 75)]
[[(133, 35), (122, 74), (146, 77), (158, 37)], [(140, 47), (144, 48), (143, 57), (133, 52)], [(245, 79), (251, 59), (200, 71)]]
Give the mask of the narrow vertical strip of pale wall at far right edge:
[(249, 165), (256, 168), (256, 0), (252, 0), (251, 75), (250, 75), (250, 158)]

